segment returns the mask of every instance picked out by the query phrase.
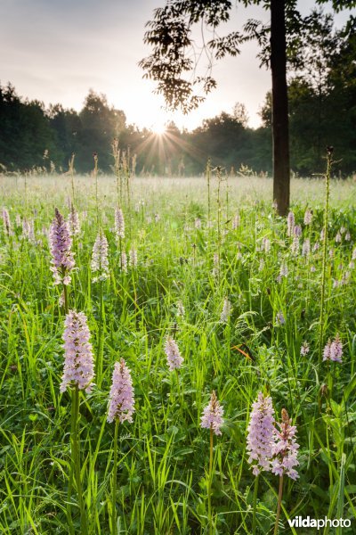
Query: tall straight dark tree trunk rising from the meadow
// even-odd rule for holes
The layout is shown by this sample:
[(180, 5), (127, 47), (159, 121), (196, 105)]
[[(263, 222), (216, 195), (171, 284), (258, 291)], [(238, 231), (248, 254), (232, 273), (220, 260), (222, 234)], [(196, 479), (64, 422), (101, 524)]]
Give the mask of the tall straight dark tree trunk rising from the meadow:
[(289, 206), (289, 135), (285, 0), (271, 0), (273, 199), (279, 215)]

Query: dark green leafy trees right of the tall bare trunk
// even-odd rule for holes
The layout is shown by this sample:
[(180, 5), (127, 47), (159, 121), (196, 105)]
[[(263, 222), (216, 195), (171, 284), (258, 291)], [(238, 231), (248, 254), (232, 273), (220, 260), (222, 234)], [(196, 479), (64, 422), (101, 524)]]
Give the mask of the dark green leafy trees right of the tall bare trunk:
[[(291, 169), (303, 176), (325, 168), (325, 147), (342, 155), (334, 172), (356, 169), (356, 22), (334, 30), (330, 16), (313, 12), (301, 37), (304, 62), (288, 85)], [(265, 131), (271, 131), (271, 94), (261, 111)]]

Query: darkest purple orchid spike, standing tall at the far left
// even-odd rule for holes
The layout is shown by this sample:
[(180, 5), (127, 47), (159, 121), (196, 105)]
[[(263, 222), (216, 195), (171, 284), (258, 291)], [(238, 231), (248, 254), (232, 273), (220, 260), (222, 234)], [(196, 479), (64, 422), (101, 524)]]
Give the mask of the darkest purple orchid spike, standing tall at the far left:
[(53, 264), (51, 271), (53, 271), (54, 284), (70, 283), (69, 273), (75, 266), (73, 252), (70, 251), (71, 245), (72, 239), (68, 225), (59, 210), (55, 209), (55, 218), (50, 228), (51, 263)]

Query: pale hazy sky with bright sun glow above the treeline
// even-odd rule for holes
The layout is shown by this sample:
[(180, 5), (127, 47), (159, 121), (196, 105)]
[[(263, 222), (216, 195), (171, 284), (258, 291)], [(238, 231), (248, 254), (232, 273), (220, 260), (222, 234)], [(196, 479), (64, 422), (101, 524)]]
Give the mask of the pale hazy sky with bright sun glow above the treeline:
[[(145, 22), (155, 7), (164, 4), (164, 0), (0, 0), (1, 84), (11, 81), (24, 97), (77, 111), (93, 88), (125, 111), (128, 123), (149, 128), (167, 118), (180, 127), (195, 128), (202, 119), (231, 112), (240, 102), (247, 106), (250, 126), (258, 126), (257, 112), (271, 86), (271, 74), (258, 68), (253, 43), (244, 45), (237, 58), (216, 63), (218, 86), (198, 111), (183, 118), (161, 110), (162, 100), (152, 94), (154, 84), (142, 79), (137, 63), (150, 53), (143, 45)], [(300, 0), (303, 12), (314, 4)], [(337, 20), (345, 17), (339, 15)], [(224, 31), (239, 29), (247, 18), (269, 19), (261, 8), (245, 10), (238, 4)]]

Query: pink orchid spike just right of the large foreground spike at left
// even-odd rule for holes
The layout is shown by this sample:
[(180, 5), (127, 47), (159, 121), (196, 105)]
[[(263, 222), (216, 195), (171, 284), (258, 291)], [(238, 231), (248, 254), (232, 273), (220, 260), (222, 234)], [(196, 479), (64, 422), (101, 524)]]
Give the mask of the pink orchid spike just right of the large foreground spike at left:
[(134, 388), (130, 369), (126, 366), (124, 358), (116, 362), (112, 374), (112, 383), (109, 393), (108, 422), (118, 420), (121, 424), (133, 421), (134, 414)]

